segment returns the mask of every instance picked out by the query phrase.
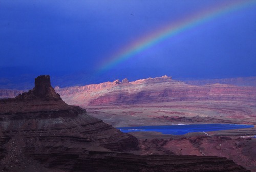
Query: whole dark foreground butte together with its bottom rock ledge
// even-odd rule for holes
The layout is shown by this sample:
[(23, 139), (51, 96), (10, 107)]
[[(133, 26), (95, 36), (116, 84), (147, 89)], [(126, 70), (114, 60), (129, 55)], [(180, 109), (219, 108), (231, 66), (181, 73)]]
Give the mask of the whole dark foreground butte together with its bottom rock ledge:
[(216, 156), (121, 153), (136, 151), (138, 140), (66, 104), (48, 75), (28, 93), (1, 100), (0, 109), (3, 171), (249, 171)]

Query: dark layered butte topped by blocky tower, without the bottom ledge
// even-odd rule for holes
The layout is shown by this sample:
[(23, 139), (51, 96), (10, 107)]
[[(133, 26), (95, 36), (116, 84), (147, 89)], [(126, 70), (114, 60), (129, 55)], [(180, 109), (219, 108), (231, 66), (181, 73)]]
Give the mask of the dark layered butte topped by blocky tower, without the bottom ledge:
[(79, 106), (66, 104), (55, 93), (50, 76), (35, 79), (35, 88), (13, 99), (0, 100), (0, 166), (26, 171), (28, 158), (45, 167), (74, 168), (88, 150), (136, 150), (138, 140), (121, 133)]

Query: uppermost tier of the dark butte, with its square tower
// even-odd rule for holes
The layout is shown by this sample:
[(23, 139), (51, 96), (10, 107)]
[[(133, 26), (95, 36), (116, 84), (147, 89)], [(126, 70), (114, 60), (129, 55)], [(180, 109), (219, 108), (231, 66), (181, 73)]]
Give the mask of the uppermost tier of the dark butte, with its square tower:
[[(86, 110), (79, 106), (68, 105), (51, 87), (50, 76), (35, 78), (35, 87), (15, 98), (1, 99), (0, 114), (9, 115), (10, 119), (24, 118), (58, 118), (60, 116), (77, 116)], [(0, 117), (1, 119), (1, 117)]]

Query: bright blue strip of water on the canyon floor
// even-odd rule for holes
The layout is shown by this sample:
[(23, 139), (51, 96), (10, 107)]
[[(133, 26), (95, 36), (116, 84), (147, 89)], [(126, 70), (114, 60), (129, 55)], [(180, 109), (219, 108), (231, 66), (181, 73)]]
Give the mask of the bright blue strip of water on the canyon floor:
[(245, 124), (188, 124), (188, 125), (156, 125), (156, 126), (131, 126), (118, 127), (123, 133), (130, 132), (160, 132), (162, 134), (184, 135), (193, 132), (212, 132), (221, 130), (234, 130), (251, 128), (254, 125)]

